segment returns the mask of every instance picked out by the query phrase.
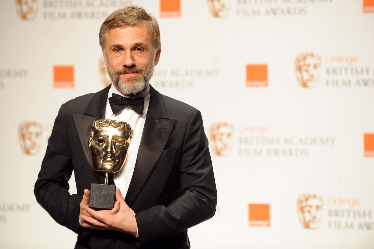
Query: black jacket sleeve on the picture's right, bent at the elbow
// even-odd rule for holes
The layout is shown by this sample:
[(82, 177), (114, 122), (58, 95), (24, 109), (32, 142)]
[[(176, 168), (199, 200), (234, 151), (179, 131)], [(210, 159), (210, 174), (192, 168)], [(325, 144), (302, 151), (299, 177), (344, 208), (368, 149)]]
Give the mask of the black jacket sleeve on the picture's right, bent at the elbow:
[(211, 218), (217, 190), (201, 114), (196, 110), (187, 125), (179, 165), (181, 195), (168, 206), (136, 214), (140, 245), (171, 236)]

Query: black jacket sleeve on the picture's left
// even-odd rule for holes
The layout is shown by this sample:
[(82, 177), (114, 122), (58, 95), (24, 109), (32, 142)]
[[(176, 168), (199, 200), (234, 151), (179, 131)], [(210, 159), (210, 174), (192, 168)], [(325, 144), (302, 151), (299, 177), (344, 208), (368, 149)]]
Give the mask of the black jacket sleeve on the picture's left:
[(68, 192), (68, 180), (72, 171), (63, 104), (48, 140), (46, 154), (35, 183), (34, 194), (38, 203), (57, 223), (81, 234), (81, 228), (78, 227), (78, 217), (82, 196), (70, 195)]

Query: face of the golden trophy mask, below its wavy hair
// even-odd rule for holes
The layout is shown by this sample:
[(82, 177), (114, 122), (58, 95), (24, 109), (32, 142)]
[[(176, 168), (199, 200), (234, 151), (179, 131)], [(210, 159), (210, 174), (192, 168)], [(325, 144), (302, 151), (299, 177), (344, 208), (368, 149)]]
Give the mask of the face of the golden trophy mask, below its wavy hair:
[(95, 131), (90, 142), (93, 169), (116, 173), (126, 160), (130, 145), (126, 131), (114, 127), (101, 127)]

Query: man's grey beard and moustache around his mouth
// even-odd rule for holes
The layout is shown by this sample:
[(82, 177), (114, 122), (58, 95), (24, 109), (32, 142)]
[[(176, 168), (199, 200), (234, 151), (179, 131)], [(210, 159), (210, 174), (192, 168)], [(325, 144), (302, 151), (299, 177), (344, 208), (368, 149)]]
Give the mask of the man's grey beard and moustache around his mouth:
[[(130, 67), (130, 68), (123, 68), (117, 69), (113, 73), (110, 72), (107, 66), (107, 72), (109, 78), (112, 80), (113, 84), (117, 86), (120, 92), (123, 95), (135, 95), (147, 88), (150, 79), (152, 78), (154, 71), (154, 62), (149, 67)], [(120, 79), (120, 75), (123, 73), (135, 73), (141, 72), (141, 77), (129, 78), (126, 81), (122, 81)]]

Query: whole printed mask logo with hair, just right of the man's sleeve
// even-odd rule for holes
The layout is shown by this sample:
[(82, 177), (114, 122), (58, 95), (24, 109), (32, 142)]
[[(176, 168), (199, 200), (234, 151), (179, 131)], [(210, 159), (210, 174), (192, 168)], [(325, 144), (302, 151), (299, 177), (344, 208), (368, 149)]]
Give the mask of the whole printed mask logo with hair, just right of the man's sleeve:
[(229, 123), (217, 122), (210, 127), (210, 139), (214, 154), (227, 157), (234, 143), (234, 127)]

